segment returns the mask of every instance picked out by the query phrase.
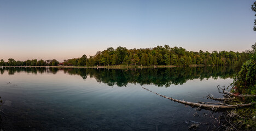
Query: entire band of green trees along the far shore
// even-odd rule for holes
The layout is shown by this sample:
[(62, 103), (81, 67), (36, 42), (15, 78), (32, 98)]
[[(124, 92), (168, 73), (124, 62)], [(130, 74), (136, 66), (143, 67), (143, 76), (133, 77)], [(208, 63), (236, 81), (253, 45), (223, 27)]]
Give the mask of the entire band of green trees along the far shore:
[(170, 47), (169, 45), (156, 46), (145, 49), (126, 49), (126, 47), (108, 47), (103, 51), (97, 51), (94, 56), (83, 55), (80, 58), (65, 59), (62, 63), (56, 59), (44, 61), (40, 59), (28, 59), (27, 61), (15, 61), (9, 58), (8, 62), (0, 61), (0, 66), (241, 66), (249, 59), (250, 50), (243, 52), (234, 51), (187, 51), (182, 47)]

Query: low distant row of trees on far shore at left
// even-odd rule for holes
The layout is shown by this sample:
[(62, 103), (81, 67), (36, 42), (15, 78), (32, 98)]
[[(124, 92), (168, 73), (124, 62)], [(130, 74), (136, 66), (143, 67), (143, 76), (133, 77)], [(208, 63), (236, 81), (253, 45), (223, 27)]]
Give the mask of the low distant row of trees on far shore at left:
[(9, 58), (8, 62), (4, 62), (3, 59), (0, 60), (0, 66), (58, 66), (60, 62), (56, 59), (49, 59), (44, 61), (40, 59), (28, 59), (27, 61), (15, 61), (13, 58)]

